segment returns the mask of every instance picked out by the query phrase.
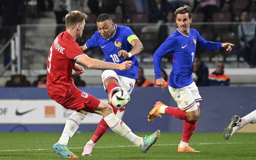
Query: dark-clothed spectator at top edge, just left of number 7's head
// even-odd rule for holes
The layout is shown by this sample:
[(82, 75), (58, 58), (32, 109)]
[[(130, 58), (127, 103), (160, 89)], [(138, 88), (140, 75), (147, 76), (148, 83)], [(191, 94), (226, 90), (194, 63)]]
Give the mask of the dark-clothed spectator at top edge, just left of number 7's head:
[(149, 9), (149, 22), (166, 22), (166, 15), (170, 10), (170, 4), (166, 0), (154, 0), (152, 7)]

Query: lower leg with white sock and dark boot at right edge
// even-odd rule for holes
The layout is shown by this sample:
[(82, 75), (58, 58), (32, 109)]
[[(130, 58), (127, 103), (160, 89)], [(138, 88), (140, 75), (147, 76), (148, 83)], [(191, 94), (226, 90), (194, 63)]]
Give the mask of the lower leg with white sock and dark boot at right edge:
[(249, 123), (256, 123), (256, 110), (242, 118), (240, 118), (240, 116), (233, 116), (230, 124), (224, 130), (224, 139), (228, 140), (234, 133), (236, 133), (236, 131)]

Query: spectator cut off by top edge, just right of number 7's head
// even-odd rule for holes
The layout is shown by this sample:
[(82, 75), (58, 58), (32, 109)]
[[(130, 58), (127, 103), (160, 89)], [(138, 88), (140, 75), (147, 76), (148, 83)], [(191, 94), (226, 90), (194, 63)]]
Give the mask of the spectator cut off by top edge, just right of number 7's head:
[(197, 11), (202, 12), (203, 22), (212, 22), (212, 15), (219, 11), (220, 0), (197, 0)]

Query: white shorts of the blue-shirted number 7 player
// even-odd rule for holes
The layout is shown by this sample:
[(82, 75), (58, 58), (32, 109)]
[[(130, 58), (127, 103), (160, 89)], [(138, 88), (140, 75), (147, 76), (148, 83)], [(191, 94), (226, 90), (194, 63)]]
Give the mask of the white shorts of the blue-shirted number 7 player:
[(202, 101), (195, 82), (182, 88), (172, 88), (169, 86), (168, 89), (177, 102), (178, 107), (183, 111), (190, 112), (197, 110), (197, 105), (200, 105), (199, 102)]

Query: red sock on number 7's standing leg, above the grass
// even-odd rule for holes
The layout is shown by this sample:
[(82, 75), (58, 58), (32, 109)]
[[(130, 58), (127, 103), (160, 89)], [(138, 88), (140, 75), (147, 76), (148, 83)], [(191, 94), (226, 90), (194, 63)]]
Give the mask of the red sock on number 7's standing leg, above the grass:
[(191, 136), (193, 135), (195, 129), (196, 129), (197, 120), (190, 122), (188, 120), (185, 120), (183, 124), (183, 134), (181, 141), (188, 143)]

